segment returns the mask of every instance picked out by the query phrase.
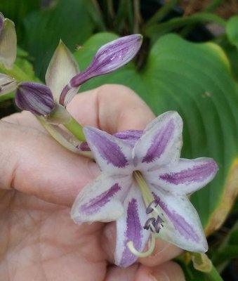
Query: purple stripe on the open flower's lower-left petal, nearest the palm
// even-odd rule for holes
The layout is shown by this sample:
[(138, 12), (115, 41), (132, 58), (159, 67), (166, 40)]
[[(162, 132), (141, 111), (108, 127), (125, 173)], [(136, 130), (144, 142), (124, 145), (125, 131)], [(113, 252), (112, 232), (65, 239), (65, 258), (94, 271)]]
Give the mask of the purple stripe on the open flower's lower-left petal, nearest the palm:
[(80, 211), (86, 215), (96, 213), (101, 207), (107, 204), (119, 190), (121, 190), (121, 186), (118, 183), (115, 183), (109, 190), (82, 205)]

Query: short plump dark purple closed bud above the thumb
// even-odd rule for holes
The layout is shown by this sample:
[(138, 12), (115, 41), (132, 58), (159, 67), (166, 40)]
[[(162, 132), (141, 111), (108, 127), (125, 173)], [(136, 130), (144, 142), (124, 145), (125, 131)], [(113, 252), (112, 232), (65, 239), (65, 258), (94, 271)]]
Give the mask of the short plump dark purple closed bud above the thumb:
[(15, 94), (15, 103), (34, 115), (49, 115), (55, 107), (51, 90), (42, 84), (23, 82)]

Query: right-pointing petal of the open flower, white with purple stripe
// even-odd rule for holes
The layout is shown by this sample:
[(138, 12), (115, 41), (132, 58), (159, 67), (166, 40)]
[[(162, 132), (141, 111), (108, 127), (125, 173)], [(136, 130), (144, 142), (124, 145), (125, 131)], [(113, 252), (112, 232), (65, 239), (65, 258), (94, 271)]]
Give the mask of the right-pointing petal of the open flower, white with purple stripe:
[(190, 194), (208, 184), (218, 171), (211, 158), (180, 159), (178, 165), (146, 173), (146, 180), (170, 192)]

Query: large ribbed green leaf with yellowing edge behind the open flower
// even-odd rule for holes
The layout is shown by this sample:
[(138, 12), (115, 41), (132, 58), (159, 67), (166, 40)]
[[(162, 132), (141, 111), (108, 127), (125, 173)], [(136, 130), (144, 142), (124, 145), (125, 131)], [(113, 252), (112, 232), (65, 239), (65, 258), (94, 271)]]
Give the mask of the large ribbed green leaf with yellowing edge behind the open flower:
[[(108, 33), (91, 37), (84, 50), (75, 54), (81, 69), (90, 63), (95, 49), (114, 38)], [(220, 168), (211, 184), (192, 195), (206, 233), (220, 227), (238, 188), (238, 88), (225, 53), (216, 44), (194, 44), (168, 34), (152, 46), (140, 72), (129, 63), (113, 74), (87, 81), (81, 91), (105, 83), (131, 87), (155, 115), (166, 110), (180, 113), (182, 156), (213, 157)]]

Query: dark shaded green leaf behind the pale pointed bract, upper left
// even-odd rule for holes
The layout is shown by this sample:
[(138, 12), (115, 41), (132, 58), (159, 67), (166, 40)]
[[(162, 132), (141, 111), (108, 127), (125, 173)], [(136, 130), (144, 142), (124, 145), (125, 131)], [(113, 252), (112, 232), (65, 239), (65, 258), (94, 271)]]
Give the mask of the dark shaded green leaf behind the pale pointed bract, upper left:
[(31, 13), (25, 20), (24, 48), (33, 58), (42, 80), (60, 39), (70, 50), (83, 44), (93, 32), (93, 23), (83, 0), (58, 0), (50, 8)]

